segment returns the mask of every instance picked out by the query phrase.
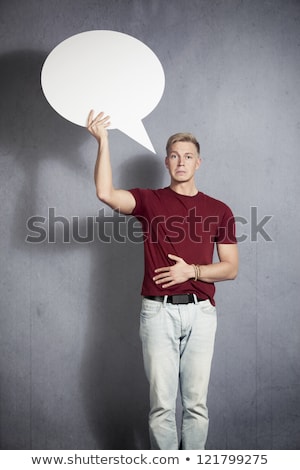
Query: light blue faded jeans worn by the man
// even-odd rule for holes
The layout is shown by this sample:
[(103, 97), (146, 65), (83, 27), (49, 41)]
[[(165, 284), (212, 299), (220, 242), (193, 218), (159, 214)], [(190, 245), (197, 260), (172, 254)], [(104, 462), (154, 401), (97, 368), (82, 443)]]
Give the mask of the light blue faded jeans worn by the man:
[[(173, 305), (143, 298), (140, 337), (150, 383), (152, 449), (204, 449), (208, 432), (207, 391), (217, 327), (209, 300)], [(180, 386), (181, 446), (176, 427)]]

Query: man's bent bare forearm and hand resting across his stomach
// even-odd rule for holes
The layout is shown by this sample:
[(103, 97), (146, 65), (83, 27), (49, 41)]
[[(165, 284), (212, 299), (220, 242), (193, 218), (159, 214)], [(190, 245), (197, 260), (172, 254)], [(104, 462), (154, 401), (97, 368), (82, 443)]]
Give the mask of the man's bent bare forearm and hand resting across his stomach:
[[(238, 273), (237, 245), (219, 244), (217, 250), (220, 261), (201, 265), (199, 281), (217, 282), (236, 278)], [(153, 280), (156, 284), (162, 284), (161, 287), (166, 288), (195, 278), (195, 269), (192, 264), (187, 264), (182, 258), (175, 255), (169, 255), (169, 258), (175, 261), (175, 264), (155, 270)]]

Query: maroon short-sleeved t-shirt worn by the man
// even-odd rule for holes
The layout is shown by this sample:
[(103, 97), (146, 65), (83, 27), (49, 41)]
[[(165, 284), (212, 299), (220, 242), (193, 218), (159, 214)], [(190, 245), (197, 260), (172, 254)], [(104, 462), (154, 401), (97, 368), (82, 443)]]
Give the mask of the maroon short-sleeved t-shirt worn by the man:
[(215, 243), (236, 243), (234, 216), (221, 201), (198, 192), (177, 194), (170, 188), (131, 189), (136, 200), (132, 213), (144, 233), (145, 272), (142, 295), (196, 294), (214, 304), (213, 283), (188, 281), (163, 289), (153, 281), (154, 270), (174, 264), (173, 254), (188, 264), (213, 262)]

